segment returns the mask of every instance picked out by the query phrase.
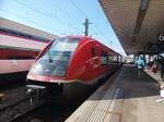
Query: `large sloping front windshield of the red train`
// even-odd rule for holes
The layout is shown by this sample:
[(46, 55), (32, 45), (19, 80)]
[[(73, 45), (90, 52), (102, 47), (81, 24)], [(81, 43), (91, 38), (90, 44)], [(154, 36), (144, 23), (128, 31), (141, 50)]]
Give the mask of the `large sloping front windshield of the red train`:
[(31, 69), (31, 72), (46, 76), (65, 76), (70, 57), (75, 50), (79, 40), (79, 38), (56, 39)]

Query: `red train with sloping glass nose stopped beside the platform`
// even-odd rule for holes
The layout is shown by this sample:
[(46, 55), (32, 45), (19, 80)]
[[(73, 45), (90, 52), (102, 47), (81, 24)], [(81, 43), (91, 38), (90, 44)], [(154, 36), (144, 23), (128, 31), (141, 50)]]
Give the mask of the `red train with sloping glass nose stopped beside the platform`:
[(84, 36), (56, 38), (37, 57), (27, 74), (31, 88), (70, 97), (115, 71), (119, 53)]

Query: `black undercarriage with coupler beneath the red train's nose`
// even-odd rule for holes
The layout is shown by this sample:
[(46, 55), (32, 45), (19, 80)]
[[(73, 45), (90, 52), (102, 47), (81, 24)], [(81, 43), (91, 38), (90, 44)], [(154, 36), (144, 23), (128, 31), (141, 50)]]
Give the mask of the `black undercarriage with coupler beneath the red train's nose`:
[(39, 98), (48, 101), (74, 101), (92, 90), (93, 85), (74, 83), (46, 83), (37, 81), (27, 81), (26, 94), (32, 98)]

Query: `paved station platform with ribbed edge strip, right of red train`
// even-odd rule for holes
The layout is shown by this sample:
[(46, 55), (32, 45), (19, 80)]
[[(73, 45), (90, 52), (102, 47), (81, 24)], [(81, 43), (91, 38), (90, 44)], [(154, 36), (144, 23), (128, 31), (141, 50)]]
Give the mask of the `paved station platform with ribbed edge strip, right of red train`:
[(157, 81), (133, 65), (124, 65), (66, 122), (163, 122), (164, 102), (156, 102)]

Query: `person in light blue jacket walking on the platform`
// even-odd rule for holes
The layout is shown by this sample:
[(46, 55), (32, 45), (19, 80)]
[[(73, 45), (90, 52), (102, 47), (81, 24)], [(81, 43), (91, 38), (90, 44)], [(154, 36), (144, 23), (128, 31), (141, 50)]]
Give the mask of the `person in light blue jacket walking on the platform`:
[(142, 57), (139, 57), (138, 60), (134, 62), (134, 64), (137, 65), (138, 68), (138, 76), (139, 78), (141, 77), (141, 72), (142, 70), (144, 69), (145, 66), (145, 62), (144, 60), (142, 59)]

